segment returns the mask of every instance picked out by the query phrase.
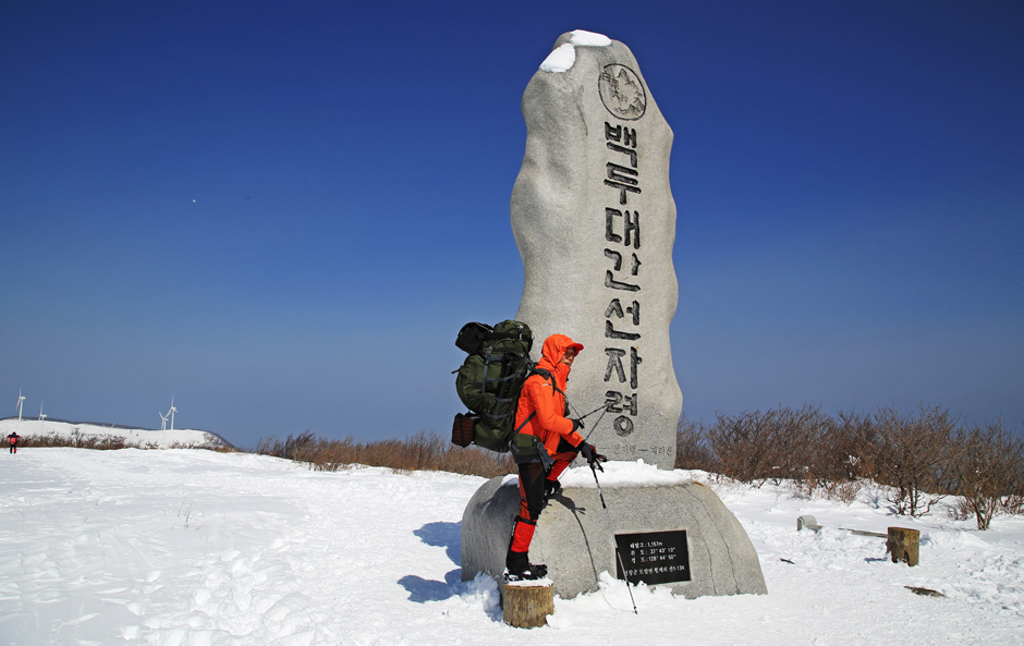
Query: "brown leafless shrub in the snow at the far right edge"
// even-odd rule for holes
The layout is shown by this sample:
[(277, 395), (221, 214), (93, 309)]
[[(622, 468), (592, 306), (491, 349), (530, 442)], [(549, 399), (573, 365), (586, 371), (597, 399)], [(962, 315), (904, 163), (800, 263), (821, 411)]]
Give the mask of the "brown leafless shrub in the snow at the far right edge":
[(1020, 508), (1024, 486), (1024, 441), (1011, 437), (1002, 422), (976, 426), (961, 434), (955, 464), (960, 517), (974, 516), (978, 529), (988, 529), (1000, 511)]

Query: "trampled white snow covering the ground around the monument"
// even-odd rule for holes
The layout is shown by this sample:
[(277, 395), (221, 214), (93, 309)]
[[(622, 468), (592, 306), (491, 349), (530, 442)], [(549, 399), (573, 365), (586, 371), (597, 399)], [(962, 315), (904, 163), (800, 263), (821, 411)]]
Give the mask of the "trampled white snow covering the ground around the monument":
[[(639, 467), (609, 467), (613, 512), (614, 480)], [(483, 483), (196, 450), (5, 453), (0, 644), (1024, 643), (1024, 519), (983, 533), (943, 515), (894, 517), (867, 495), (845, 507), (714, 483), (760, 556), (768, 595), (687, 600), (641, 587), (633, 614), (624, 584), (606, 578), (556, 599), (548, 626), (512, 629), (491, 581), (460, 581), (462, 511)], [(825, 528), (797, 533), (802, 514)], [(840, 529), (889, 525), (922, 531), (918, 566)]]

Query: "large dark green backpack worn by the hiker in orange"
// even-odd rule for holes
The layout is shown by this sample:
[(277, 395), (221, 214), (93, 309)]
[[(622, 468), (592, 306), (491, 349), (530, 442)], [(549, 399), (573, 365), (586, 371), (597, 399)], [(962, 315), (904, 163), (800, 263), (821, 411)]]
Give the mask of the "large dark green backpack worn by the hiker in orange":
[(455, 391), (470, 413), (455, 415), (453, 443), (499, 453), (509, 450), (520, 391), (534, 365), (533, 344), (529, 326), (517, 320), (503, 320), (493, 328), (479, 322), (463, 326), (455, 345), (468, 356), (456, 370)]

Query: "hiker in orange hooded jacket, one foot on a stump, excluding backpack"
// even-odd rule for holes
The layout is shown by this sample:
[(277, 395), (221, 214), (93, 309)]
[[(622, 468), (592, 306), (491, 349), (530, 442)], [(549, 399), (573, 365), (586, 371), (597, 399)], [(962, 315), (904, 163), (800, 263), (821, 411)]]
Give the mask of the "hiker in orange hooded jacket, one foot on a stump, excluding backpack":
[(512, 526), (512, 539), (505, 566), (510, 578), (541, 578), (548, 569), (529, 563), (529, 541), (546, 502), (561, 491), (558, 482), (565, 467), (583, 454), (587, 462), (606, 462), (593, 444), (577, 432), (580, 419), (568, 417), (565, 382), (573, 359), (583, 350), (564, 334), (551, 334), (544, 342), (540, 361), (523, 383), (512, 456), (520, 472), (520, 513)]

